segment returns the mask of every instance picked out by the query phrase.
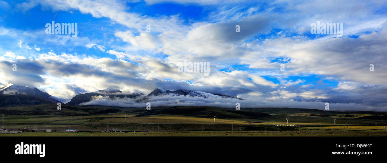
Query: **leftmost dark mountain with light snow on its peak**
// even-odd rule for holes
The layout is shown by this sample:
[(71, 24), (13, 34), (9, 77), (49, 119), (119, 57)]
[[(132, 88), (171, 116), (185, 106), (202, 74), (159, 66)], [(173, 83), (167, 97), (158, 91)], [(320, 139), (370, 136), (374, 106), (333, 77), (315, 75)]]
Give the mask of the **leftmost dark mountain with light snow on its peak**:
[(1, 90), (0, 94), (10, 94), (10, 95), (24, 94), (24, 95), (30, 95), (30, 96), (40, 98), (50, 103), (62, 103), (59, 100), (56, 100), (55, 98), (53, 98), (50, 94), (46, 92), (42, 92), (36, 87), (32, 89), (27, 86), (19, 86), (16, 84), (13, 84), (12, 86), (9, 86)]

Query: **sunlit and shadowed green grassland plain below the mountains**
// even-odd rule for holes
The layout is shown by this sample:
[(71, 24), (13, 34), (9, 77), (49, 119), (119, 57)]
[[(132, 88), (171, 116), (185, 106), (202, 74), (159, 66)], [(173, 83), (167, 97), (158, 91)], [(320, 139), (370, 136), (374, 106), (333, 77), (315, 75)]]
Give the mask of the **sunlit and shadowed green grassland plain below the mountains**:
[[(5, 115), (4, 127), (9, 130), (61, 131), (0, 136), (386, 136), (381, 118), (387, 119), (387, 113), (382, 112), (334, 112), (298, 108), (235, 110), (205, 106), (146, 110), (63, 104), (62, 110), (57, 110), (56, 104), (41, 104), (2, 107), (0, 113)], [(215, 122), (213, 116), (216, 116)], [(286, 118), (289, 118), (288, 124), (295, 126), (276, 126), (286, 124)], [(335, 125), (333, 118), (336, 118)], [(69, 125), (70, 129), (86, 132), (62, 133)], [(101, 132), (108, 126), (109, 129), (123, 132)]]

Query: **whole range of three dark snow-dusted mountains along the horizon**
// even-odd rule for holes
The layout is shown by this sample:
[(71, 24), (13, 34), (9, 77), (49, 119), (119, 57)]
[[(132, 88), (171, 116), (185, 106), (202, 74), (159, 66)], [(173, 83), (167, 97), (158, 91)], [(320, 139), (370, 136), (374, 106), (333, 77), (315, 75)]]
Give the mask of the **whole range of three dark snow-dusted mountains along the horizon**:
[[(34, 87), (29, 88), (27, 86), (20, 86), (17, 84), (13, 84), (9, 87), (3, 88), (0, 91), (0, 94), (4, 95), (15, 95), (15, 96), (3, 96), (2, 99), (0, 99), (0, 104), (2, 105), (34, 105), (34, 104), (43, 104), (47, 101), (48, 103), (62, 103), (59, 100), (56, 100), (53, 98), (50, 94), (40, 91), (38, 88)], [(28, 96), (21, 96), (21, 95), (28, 95)], [(221, 98), (235, 98), (239, 100), (243, 100), (241, 98), (236, 98), (233, 96), (229, 96), (227, 94), (212, 94), (202, 91), (193, 91), (190, 89), (178, 89), (175, 91), (171, 91), (168, 89), (163, 88), (156, 88), (151, 93), (147, 94), (146, 96), (142, 93), (128, 93), (123, 92), (115, 88), (106, 88), (106, 89), (100, 89), (95, 92), (90, 93), (84, 93), (84, 94), (77, 94), (74, 97), (71, 98), (71, 100), (66, 103), (68, 105), (80, 105), (82, 103), (86, 103), (92, 100), (93, 96), (105, 96), (110, 99), (115, 98), (131, 98), (135, 99), (138, 97), (136, 102), (139, 101), (147, 101), (151, 96), (164, 96), (164, 95), (172, 95), (172, 96), (189, 96), (189, 97), (202, 97), (202, 98), (211, 98), (211, 97), (221, 97)], [(39, 100), (41, 99), (41, 100)], [(42, 101), (43, 100), (43, 101)]]

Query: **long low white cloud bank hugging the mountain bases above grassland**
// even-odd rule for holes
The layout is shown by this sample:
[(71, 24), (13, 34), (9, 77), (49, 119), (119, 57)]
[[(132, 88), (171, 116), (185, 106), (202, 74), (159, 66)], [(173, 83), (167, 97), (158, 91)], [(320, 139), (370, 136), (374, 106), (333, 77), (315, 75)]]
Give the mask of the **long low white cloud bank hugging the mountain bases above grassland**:
[[(147, 103), (151, 103), (152, 107), (159, 106), (214, 106), (221, 108), (235, 108), (236, 103), (240, 103), (240, 108), (313, 108), (324, 110), (325, 102), (313, 101), (313, 102), (299, 102), (299, 101), (264, 101), (264, 98), (257, 99), (230, 99), (230, 98), (221, 98), (221, 97), (190, 97), (190, 96), (173, 96), (173, 95), (164, 95), (164, 96), (152, 96), (146, 100), (144, 97), (138, 98), (108, 98), (106, 96), (94, 96), (91, 101), (82, 103), (80, 105), (104, 105), (104, 106), (120, 106), (120, 107), (138, 107), (146, 108)], [(380, 111), (385, 112), (387, 109), (384, 107), (372, 107), (362, 104), (355, 103), (330, 103), (330, 110), (332, 111)]]

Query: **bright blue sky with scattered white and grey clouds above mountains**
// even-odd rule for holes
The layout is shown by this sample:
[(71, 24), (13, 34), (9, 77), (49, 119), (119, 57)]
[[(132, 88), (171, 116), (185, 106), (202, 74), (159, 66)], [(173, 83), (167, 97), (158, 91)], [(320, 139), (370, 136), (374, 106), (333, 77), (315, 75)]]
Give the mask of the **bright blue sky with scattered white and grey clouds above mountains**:
[[(229, 94), (257, 107), (387, 110), (384, 1), (0, 4), (1, 86), (36, 86), (63, 102), (108, 87), (165, 88)], [(77, 37), (46, 34), (51, 21), (77, 23)], [(312, 34), (317, 21), (342, 23), (342, 36)], [(211, 73), (180, 73), (184, 60), (209, 62)]]

